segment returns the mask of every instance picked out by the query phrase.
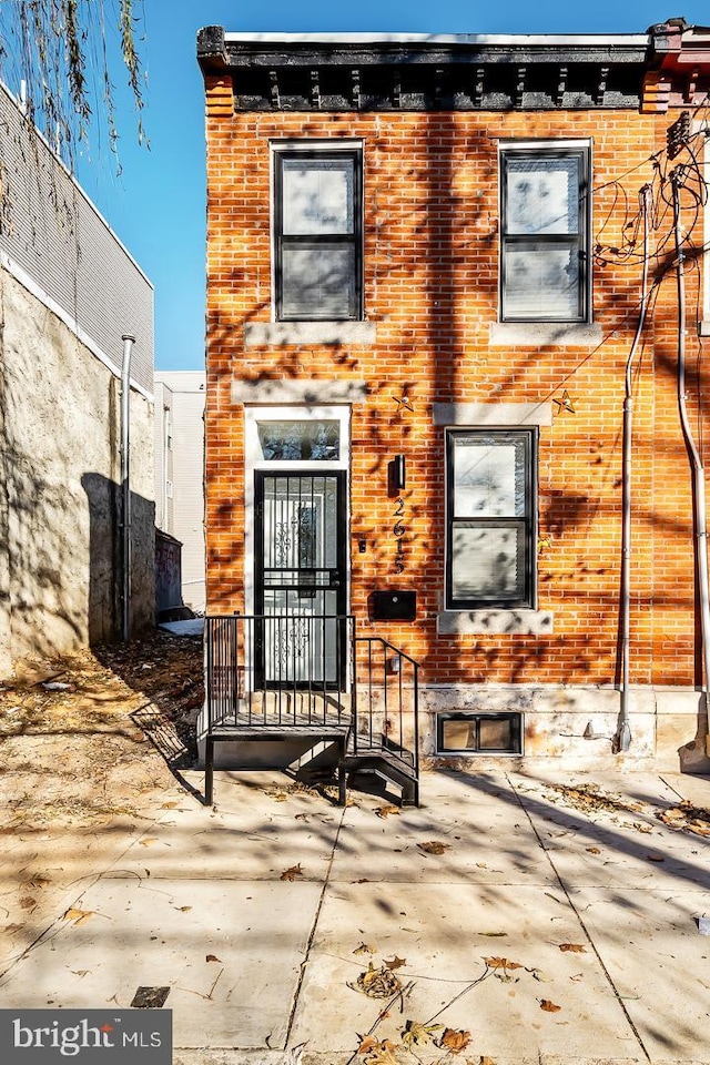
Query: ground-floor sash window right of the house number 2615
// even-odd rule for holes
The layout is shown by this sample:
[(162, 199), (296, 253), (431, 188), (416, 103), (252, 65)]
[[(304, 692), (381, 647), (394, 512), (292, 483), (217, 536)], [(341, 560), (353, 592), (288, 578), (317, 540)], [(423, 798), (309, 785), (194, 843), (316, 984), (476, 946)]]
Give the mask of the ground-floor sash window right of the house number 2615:
[(535, 607), (537, 430), (447, 433), (446, 608)]

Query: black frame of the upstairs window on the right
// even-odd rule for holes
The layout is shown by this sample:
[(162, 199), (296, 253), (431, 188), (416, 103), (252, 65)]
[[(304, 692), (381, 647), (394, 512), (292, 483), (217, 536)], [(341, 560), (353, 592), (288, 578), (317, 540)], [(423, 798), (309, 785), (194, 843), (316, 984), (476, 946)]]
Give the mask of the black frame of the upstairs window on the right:
[[(508, 163), (510, 160), (579, 160), (578, 226), (576, 234), (511, 234), (508, 233)], [(568, 244), (577, 246), (579, 267), (579, 293), (577, 314), (567, 315), (516, 315), (506, 312), (506, 252), (511, 247), (525, 247), (532, 244)], [(499, 307), (501, 322), (565, 322), (570, 325), (585, 325), (592, 317), (592, 272), (591, 256), (591, 145), (558, 144), (549, 141), (525, 145), (505, 144), (500, 146), (500, 268)]]

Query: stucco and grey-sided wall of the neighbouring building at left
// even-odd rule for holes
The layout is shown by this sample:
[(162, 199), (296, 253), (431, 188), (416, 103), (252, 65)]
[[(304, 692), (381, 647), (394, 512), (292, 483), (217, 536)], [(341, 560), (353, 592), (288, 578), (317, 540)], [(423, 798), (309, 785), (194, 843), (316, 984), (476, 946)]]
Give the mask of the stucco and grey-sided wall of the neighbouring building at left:
[(121, 635), (121, 355), (132, 631), (154, 623), (152, 287), (0, 88), (0, 674)]

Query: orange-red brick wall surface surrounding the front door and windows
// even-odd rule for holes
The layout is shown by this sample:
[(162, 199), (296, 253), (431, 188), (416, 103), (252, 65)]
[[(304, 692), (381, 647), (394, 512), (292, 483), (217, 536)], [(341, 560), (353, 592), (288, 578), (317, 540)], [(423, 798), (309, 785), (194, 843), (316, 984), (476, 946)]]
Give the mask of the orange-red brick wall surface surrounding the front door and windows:
[[(352, 609), (366, 619), (375, 587), (418, 591), (418, 622), (377, 631), (420, 660), (424, 679), (612, 683), (617, 669), (625, 366), (636, 327), (638, 262), (595, 268), (589, 346), (491, 347), (498, 285), (499, 138), (592, 138), (594, 229), (619, 246), (653, 178), (650, 156), (674, 115), (628, 111), (436, 114), (232, 114), (226, 82), (207, 85), (207, 595), (212, 612), (243, 608), (243, 410), (235, 377), (364, 379), (353, 407)], [(271, 318), (272, 138), (355, 136), (365, 143), (365, 308), (372, 347), (246, 348), (245, 323)], [(625, 176), (626, 175), (626, 176)], [(628, 197), (628, 203), (625, 201)], [(662, 205), (661, 205), (662, 206)], [(669, 209), (653, 234), (651, 278), (672, 265)], [(688, 212), (690, 219), (690, 212)], [(628, 234), (627, 234), (628, 235)], [(662, 243), (665, 242), (665, 244)], [(696, 243), (701, 243), (699, 233)], [(640, 244), (638, 245), (640, 251)], [(698, 272), (689, 268), (696, 311)], [(698, 338), (689, 323), (689, 366)], [(635, 373), (631, 680), (696, 677), (691, 491), (676, 398), (677, 295), (659, 281)], [(694, 378), (689, 373), (691, 414)], [(433, 402), (561, 398), (540, 430), (539, 608), (554, 633), (440, 636), (444, 586), (444, 433)], [(398, 408), (406, 394), (414, 412)], [(557, 407), (555, 407), (557, 410)], [(387, 462), (407, 456), (406, 568), (395, 572)], [(357, 539), (367, 551), (357, 551)]]

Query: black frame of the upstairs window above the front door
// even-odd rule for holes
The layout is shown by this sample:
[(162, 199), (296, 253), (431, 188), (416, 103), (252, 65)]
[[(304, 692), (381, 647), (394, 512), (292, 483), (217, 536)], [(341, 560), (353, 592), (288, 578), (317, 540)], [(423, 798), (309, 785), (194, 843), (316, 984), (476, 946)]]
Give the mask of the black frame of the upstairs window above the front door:
[[(283, 232), (283, 164), (286, 160), (300, 162), (348, 159), (353, 161), (353, 233), (334, 234), (284, 234)], [(363, 149), (357, 146), (323, 149), (287, 148), (274, 152), (274, 307), (277, 322), (362, 322), (364, 318), (363, 292)], [(324, 314), (285, 314), (283, 251), (284, 247), (297, 247), (321, 244), (325, 247), (353, 248), (353, 284), (355, 301), (353, 313), (343, 316)]]

